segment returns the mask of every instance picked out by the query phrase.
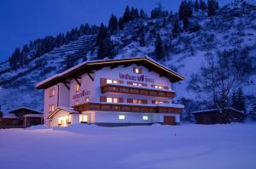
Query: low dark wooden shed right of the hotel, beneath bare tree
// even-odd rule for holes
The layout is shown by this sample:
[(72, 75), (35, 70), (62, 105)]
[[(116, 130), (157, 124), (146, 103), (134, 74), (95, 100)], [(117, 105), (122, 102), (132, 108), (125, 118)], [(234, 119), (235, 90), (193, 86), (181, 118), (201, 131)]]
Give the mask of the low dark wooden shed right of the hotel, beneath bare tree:
[(245, 113), (234, 108), (225, 108), (220, 112), (218, 109), (200, 110), (192, 112), (195, 115), (196, 124), (225, 124), (230, 122), (241, 122)]

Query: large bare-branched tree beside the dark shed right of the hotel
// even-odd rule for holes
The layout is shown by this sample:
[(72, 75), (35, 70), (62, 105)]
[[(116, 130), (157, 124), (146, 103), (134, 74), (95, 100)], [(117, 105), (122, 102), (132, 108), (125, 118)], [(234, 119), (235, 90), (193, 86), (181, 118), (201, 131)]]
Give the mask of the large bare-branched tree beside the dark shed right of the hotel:
[(228, 104), (230, 92), (240, 87), (250, 73), (247, 71), (250, 59), (244, 52), (236, 50), (207, 53), (205, 58), (201, 74), (192, 77), (191, 85), (197, 92), (210, 93), (212, 105), (222, 112)]

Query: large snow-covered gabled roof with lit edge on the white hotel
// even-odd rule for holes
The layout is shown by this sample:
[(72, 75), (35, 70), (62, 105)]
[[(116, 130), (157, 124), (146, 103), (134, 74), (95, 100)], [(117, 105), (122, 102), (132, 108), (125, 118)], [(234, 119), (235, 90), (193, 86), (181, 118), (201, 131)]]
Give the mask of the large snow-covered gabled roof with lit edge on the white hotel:
[(116, 65), (122, 65), (125, 63), (134, 63), (136, 64), (137, 62), (143, 63), (148, 63), (150, 66), (155, 68), (154, 70), (161, 71), (163, 76), (168, 76), (169, 78), (172, 77), (173, 82), (178, 82), (183, 80), (183, 76), (180, 76), (177, 74), (177, 72), (170, 70), (164, 65), (161, 65), (160, 63), (156, 62), (154, 59), (150, 59), (148, 57), (134, 57), (134, 58), (125, 58), (125, 59), (100, 59), (100, 60), (90, 60), (90, 61), (85, 61), (79, 65), (75, 65), (72, 68), (65, 70), (59, 74), (55, 74), (54, 76), (50, 76), (49, 78), (45, 79), (42, 82), (38, 82), (36, 87), (38, 89), (41, 88), (47, 88), (50, 86), (53, 86), (57, 84), (58, 82), (63, 81), (64, 79), (70, 77), (72, 74), (76, 74), (77, 71), (80, 72), (80, 70), (89, 70), (89, 68), (96, 68), (96, 66), (108, 66), (111, 64), (116, 64)]

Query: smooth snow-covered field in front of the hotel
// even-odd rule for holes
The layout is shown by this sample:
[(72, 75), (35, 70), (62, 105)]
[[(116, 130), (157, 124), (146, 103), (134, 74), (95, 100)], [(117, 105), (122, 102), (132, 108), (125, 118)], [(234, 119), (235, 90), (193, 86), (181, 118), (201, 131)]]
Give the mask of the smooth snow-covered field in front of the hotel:
[(256, 168), (256, 124), (0, 130), (0, 168)]

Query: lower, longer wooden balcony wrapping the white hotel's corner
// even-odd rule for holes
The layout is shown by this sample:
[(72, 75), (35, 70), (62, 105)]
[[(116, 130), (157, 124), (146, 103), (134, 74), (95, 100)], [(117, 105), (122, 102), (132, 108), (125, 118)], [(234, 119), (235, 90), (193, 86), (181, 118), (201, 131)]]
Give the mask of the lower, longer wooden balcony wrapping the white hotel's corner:
[(113, 103), (85, 103), (73, 106), (73, 108), (80, 113), (83, 111), (121, 111), (121, 112), (139, 112), (139, 113), (182, 113), (181, 108), (166, 107), (160, 104), (113, 104)]

